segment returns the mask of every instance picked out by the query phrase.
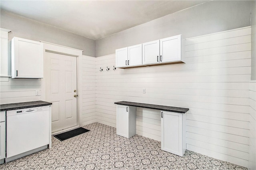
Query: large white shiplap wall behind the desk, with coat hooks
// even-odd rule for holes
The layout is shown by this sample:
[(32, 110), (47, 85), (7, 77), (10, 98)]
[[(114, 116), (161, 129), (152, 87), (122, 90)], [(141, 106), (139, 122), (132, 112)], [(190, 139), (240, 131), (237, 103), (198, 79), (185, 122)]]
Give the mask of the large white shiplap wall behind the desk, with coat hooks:
[[(188, 107), (187, 149), (248, 167), (250, 34), (245, 27), (186, 39), (186, 64), (113, 70), (114, 54), (97, 57), (97, 121), (116, 127), (114, 102), (122, 100)], [(160, 141), (160, 111), (137, 108), (136, 119), (138, 135)]]

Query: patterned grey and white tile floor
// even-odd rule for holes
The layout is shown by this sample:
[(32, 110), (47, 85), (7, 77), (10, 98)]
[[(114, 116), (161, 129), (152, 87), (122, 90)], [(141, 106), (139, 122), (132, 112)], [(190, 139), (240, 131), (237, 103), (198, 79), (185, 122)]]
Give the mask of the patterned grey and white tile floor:
[(161, 143), (135, 135), (116, 135), (116, 128), (92, 123), (90, 132), (60, 142), (52, 149), (0, 165), (4, 170), (246, 170), (228, 162), (186, 150), (183, 157), (160, 150)]

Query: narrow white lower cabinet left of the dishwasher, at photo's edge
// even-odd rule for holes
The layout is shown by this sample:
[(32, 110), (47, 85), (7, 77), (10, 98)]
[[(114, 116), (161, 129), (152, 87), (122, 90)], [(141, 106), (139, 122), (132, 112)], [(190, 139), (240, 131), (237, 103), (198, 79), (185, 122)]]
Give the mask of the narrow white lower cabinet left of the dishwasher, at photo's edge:
[(0, 111), (0, 164), (5, 158), (5, 111)]

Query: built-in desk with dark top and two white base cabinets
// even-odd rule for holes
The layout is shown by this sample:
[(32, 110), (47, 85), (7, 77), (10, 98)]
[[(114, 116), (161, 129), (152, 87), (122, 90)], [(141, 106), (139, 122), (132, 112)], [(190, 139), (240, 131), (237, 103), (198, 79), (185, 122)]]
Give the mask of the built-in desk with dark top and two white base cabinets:
[(186, 112), (188, 108), (136, 102), (115, 102), (116, 134), (130, 138), (136, 134), (136, 107), (160, 110), (161, 149), (183, 156), (186, 150)]

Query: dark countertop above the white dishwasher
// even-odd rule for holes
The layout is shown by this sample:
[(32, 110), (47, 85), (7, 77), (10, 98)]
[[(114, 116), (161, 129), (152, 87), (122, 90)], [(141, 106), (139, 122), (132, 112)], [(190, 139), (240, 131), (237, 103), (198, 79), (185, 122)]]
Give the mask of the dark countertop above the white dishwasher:
[(34, 101), (34, 102), (22, 102), (22, 103), (12, 103), (12, 104), (1, 104), (0, 111), (4, 110), (16, 110), (16, 109), (24, 109), (29, 107), (38, 107), (38, 106), (48, 106), (51, 105), (50, 102), (44, 101)]

